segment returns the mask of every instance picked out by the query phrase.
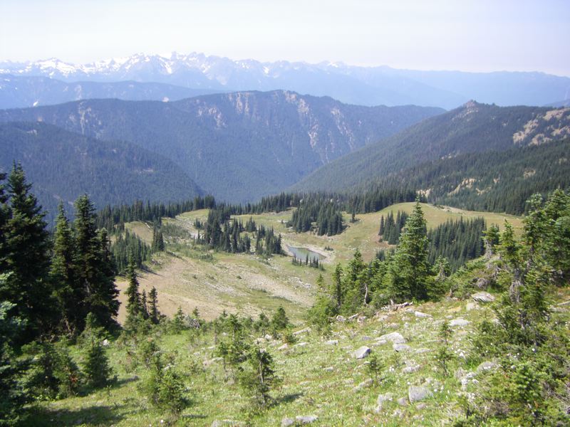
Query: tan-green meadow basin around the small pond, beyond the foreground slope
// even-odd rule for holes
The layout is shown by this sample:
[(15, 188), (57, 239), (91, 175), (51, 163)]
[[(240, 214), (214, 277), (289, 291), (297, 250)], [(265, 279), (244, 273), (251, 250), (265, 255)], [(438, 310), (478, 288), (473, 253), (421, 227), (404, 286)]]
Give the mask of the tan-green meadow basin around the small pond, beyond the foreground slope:
[[(189, 243), (190, 236), (196, 236), (199, 232), (195, 228), (195, 221), (204, 223), (207, 210), (187, 212), (172, 219), (165, 218), (164, 223), (176, 230), (177, 237), (169, 234), (172, 231), (165, 231), (168, 253), (153, 255), (153, 262), (148, 265), (150, 271), (141, 273), (140, 285), (146, 292), (152, 286), (159, 290), (160, 310), (167, 315), (174, 315), (178, 307), (182, 307), (185, 312), (199, 307), (202, 316), (208, 320), (217, 317), (223, 310), (255, 317), (260, 310), (271, 311), (283, 305), (291, 319), (303, 320), (306, 308), (314, 300), (314, 283), (318, 274), (330, 275), (336, 263), (348, 263), (356, 248), (365, 260), (372, 260), (377, 251), (387, 247), (378, 238), (380, 217), (397, 211), (409, 214), (413, 206), (413, 203), (395, 204), (373, 214), (357, 215), (356, 223), (350, 223), (350, 215), (344, 214), (346, 230), (330, 237), (295, 233), (286, 227), (286, 222), (291, 218), (290, 210), (279, 214), (234, 216), (234, 219), (243, 223), (252, 218), (258, 225), (273, 227), (276, 233), (281, 234), (288, 256), (274, 255), (267, 260), (254, 255), (209, 252)], [(505, 219), (517, 230), (522, 226), (521, 218), (517, 216), (463, 211), (429, 204), (422, 204), (422, 209), (429, 229), (448, 220), (478, 217), (484, 218), (488, 226), (497, 224), (502, 228)], [(148, 244), (152, 243), (152, 228), (145, 223), (130, 223), (127, 228)], [(180, 236), (183, 236), (182, 241)], [(289, 246), (306, 248), (321, 255), (324, 270), (292, 265)], [(127, 283), (118, 280), (118, 286), (124, 292)], [(121, 320), (124, 315), (122, 310)]]

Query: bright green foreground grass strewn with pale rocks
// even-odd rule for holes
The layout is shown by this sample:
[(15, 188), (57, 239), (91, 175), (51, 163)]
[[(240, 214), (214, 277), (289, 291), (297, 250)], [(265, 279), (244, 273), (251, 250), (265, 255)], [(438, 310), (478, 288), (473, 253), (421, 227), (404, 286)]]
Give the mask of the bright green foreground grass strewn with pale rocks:
[[(556, 300), (568, 300), (567, 289), (558, 290)], [(414, 310), (432, 317), (415, 317)], [(557, 312), (562, 321), (569, 320), (568, 308)], [(450, 364), (450, 376), (436, 368), (435, 352), (440, 345), (437, 331), (444, 319), (462, 317), (471, 323), (467, 327), (455, 327), (451, 349), (455, 359)], [(467, 362), (470, 356), (470, 336), (480, 320), (491, 319), (489, 306), (481, 305), (467, 311), (465, 301), (430, 302), (410, 307), (409, 310), (380, 312), (379, 317), (363, 323), (336, 323), (332, 336), (323, 338), (316, 332), (299, 335), (304, 347), (279, 350), (280, 341), (261, 344), (276, 362), (276, 371), (283, 379), (279, 389), (272, 391), (274, 405), (261, 413), (252, 413), (249, 398), (232, 381), (227, 381), (221, 362), (214, 358), (214, 337), (211, 333), (192, 339), (191, 332), (165, 334), (159, 332), (156, 339), (160, 347), (176, 354), (176, 369), (185, 378), (187, 394), (192, 405), (175, 423), (178, 426), (210, 426), (214, 420), (231, 419), (249, 421), (252, 426), (279, 426), (284, 417), (316, 415), (317, 426), (440, 426), (461, 415), (458, 399), (460, 382), (453, 372), (458, 368), (473, 370), (476, 364)], [(302, 327), (299, 326), (298, 329)], [(373, 339), (388, 332), (400, 332), (408, 341), (411, 351), (397, 354), (390, 343), (373, 347)], [(372, 340), (363, 341), (363, 337)], [(257, 336), (252, 335), (254, 339)], [(326, 345), (326, 339), (337, 339), (337, 345)], [(383, 363), (380, 384), (354, 391), (353, 388), (368, 379), (366, 359), (356, 360), (351, 352), (361, 345), (373, 349)], [(462, 357), (462, 354), (466, 358)], [(30, 426), (159, 426), (160, 420), (168, 420), (150, 406), (139, 390), (146, 369), (128, 369), (125, 349), (112, 342), (108, 355), (118, 374), (118, 384), (88, 396), (38, 404)], [(79, 354), (75, 353), (76, 357)], [(399, 363), (399, 365), (398, 365)], [(406, 366), (417, 365), (418, 371), (404, 374)], [(328, 370), (326, 368), (332, 368)], [(431, 380), (430, 380), (431, 379)], [(407, 396), (409, 385), (437, 381), (437, 391), (423, 401), (423, 405), (400, 406), (396, 400)], [(435, 389), (435, 382), (430, 389)], [(378, 394), (392, 393), (394, 401), (375, 413)], [(425, 405), (425, 406), (424, 406)], [(422, 408), (422, 406), (424, 406)]]

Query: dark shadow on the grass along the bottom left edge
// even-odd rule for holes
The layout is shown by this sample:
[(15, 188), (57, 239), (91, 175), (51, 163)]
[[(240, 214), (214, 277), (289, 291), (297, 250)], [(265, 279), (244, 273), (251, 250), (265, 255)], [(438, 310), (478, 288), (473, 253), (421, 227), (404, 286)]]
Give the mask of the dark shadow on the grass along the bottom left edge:
[(121, 405), (115, 406), (86, 406), (85, 408), (46, 408), (33, 406), (29, 408), (26, 419), (21, 426), (110, 426), (125, 418), (120, 413)]

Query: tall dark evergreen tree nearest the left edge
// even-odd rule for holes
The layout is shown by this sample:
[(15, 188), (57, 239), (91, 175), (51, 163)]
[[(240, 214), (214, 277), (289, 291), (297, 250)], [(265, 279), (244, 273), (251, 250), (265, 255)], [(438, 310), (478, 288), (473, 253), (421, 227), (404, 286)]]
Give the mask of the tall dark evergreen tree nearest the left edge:
[(14, 315), (26, 320), (29, 338), (46, 332), (53, 317), (53, 300), (47, 283), (49, 239), (45, 214), (31, 194), (24, 169), (14, 164), (8, 178), (10, 216), (4, 228), (6, 270), (11, 272), (0, 288), (0, 300), (16, 304)]

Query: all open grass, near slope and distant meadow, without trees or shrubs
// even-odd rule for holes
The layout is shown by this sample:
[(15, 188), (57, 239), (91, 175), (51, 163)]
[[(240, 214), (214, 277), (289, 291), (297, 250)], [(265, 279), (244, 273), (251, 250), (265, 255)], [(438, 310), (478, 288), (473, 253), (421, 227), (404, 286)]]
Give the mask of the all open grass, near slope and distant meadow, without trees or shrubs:
[[(294, 233), (284, 223), (291, 212), (253, 216), (258, 224), (273, 226), (281, 233), (284, 243), (303, 246), (327, 255), (326, 280), (330, 280), (333, 265), (346, 263), (353, 251), (360, 248), (371, 259), (380, 247), (378, 225), (380, 216), (388, 211), (410, 211), (413, 204), (390, 206), (374, 214), (358, 215), (356, 223), (348, 223), (341, 235), (326, 237), (310, 233)], [(448, 218), (484, 216), (488, 223), (502, 225), (505, 217), (514, 226), (521, 226), (521, 218), (459, 210), (447, 210), (435, 206), (423, 206), (428, 227), (437, 226)], [(192, 223), (196, 218), (205, 220), (207, 211), (189, 212), (166, 219), (190, 233), (196, 230)], [(247, 221), (249, 216), (242, 216)], [(281, 222), (283, 221), (283, 222)], [(152, 231), (143, 223), (129, 225), (142, 238), (152, 238)], [(324, 251), (330, 246), (334, 251)], [(160, 308), (167, 314), (182, 306), (186, 312), (197, 306), (203, 317), (212, 319), (219, 312), (238, 312), (256, 317), (264, 311), (271, 314), (283, 305), (296, 330), (306, 327), (304, 316), (314, 298), (314, 283), (321, 271), (291, 264), (291, 258), (275, 255), (259, 258), (255, 255), (230, 254), (207, 251), (194, 247), (190, 242), (177, 241), (167, 244), (167, 253), (155, 254), (149, 264), (149, 272), (140, 277), (141, 288), (149, 290), (155, 285), (159, 292)], [(207, 258), (207, 259), (204, 259)], [(124, 283), (120, 283), (124, 288)], [(553, 301), (570, 297), (568, 289), (558, 289)], [(123, 296), (121, 296), (123, 298)], [(569, 320), (569, 307), (556, 312), (561, 321)], [(414, 310), (431, 317), (416, 317)], [(124, 313), (121, 313), (124, 316)], [(451, 339), (455, 359), (450, 363), (450, 376), (437, 369), (435, 354), (440, 345), (437, 331), (443, 320), (462, 317), (470, 321), (467, 327), (456, 327)], [(196, 338), (193, 332), (169, 334), (164, 330), (153, 333), (160, 347), (175, 354), (176, 368), (184, 376), (187, 395), (192, 405), (180, 418), (172, 420), (150, 406), (140, 391), (140, 384), (148, 374), (144, 367), (130, 367), (126, 349), (112, 342), (108, 355), (118, 375), (118, 384), (61, 401), (43, 402), (33, 407), (30, 426), (160, 426), (174, 423), (177, 426), (211, 426), (214, 420), (244, 421), (252, 426), (279, 426), (284, 417), (316, 415), (318, 426), (440, 426), (461, 416), (461, 384), (453, 373), (458, 369), (473, 370), (475, 362), (468, 362), (470, 337), (477, 322), (492, 319), (489, 306), (480, 305), (467, 310), (465, 301), (442, 300), (413, 306), (395, 312), (380, 312), (377, 317), (364, 322), (333, 324), (330, 337), (321, 337), (315, 331), (301, 334), (298, 342), (303, 347), (289, 346), (279, 349), (283, 342), (264, 341), (261, 346), (274, 357), (276, 372), (283, 382), (271, 394), (274, 404), (265, 411), (252, 411), (252, 404), (244, 391), (224, 372), (221, 362), (213, 362), (214, 336), (211, 332)], [(397, 353), (390, 343), (373, 346), (374, 339), (388, 332), (400, 332), (411, 347), (410, 352)], [(261, 334), (252, 334), (256, 339)], [(363, 337), (371, 340), (363, 341)], [(337, 339), (337, 345), (327, 345), (326, 340)], [(373, 384), (361, 391), (354, 387), (366, 381), (369, 374), (367, 359), (356, 360), (352, 352), (362, 345), (373, 349), (373, 354), (383, 364), (380, 384)], [(73, 356), (79, 362), (81, 352), (75, 349)], [(418, 366), (417, 371), (403, 373), (407, 366)], [(231, 375), (229, 375), (231, 378)], [(435, 389), (432, 397), (422, 405), (400, 406), (396, 400), (407, 396), (408, 386), (430, 383)], [(391, 393), (394, 400), (376, 413), (378, 394)], [(161, 424), (161, 420), (165, 421)]]

